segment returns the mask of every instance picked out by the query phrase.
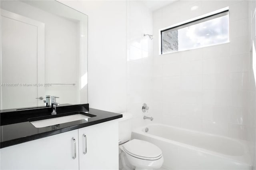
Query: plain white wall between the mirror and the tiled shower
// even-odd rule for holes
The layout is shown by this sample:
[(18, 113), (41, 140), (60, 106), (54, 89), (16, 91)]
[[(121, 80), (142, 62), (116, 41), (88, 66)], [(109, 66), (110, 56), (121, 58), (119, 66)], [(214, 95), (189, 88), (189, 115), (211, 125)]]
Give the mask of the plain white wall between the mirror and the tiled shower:
[(88, 103), (126, 112), (126, 2), (60, 1), (88, 15)]

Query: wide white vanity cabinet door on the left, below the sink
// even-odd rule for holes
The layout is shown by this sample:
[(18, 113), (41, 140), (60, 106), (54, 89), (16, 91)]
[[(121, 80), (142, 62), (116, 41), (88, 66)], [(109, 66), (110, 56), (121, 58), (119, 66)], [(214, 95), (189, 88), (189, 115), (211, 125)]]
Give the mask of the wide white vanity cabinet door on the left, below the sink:
[(1, 170), (78, 170), (78, 130), (16, 144), (0, 152)]

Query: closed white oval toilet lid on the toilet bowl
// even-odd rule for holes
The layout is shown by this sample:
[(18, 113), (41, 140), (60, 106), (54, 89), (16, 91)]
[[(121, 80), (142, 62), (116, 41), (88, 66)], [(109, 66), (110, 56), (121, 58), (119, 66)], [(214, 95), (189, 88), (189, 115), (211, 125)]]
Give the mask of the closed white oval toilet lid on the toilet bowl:
[(160, 148), (144, 140), (133, 139), (126, 142), (123, 146), (126, 153), (136, 158), (157, 160), (162, 157), (162, 150)]

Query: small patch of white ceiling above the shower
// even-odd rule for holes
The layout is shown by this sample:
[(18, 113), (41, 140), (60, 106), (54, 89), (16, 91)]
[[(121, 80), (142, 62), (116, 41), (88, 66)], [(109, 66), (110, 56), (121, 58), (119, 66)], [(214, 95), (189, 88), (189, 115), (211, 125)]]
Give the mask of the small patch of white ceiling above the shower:
[(177, 0), (142, 0), (142, 2), (151, 10), (158, 10), (164, 6), (172, 4)]

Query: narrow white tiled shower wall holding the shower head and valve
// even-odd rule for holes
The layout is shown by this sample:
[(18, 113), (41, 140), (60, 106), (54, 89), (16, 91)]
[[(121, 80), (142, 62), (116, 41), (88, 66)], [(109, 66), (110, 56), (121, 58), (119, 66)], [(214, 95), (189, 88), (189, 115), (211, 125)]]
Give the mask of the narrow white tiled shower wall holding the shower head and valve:
[[(153, 41), (143, 34), (152, 34), (152, 12), (140, 1), (127, 1), (127, 111), (133, 115), (133, 128), (150, 121), (143, 116), (157, 115), (152, 111), (151, 75)], [(142, 112), (142, 103), (150, 109)], [(157, 119), (155, 119), (157, 120)]]

